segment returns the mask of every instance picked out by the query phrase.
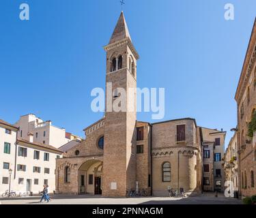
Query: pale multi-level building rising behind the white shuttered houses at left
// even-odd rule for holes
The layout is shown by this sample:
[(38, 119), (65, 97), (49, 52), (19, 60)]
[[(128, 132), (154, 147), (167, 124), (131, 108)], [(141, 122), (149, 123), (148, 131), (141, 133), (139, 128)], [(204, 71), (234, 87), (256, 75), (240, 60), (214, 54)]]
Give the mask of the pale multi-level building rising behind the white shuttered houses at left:
[(82, 140), (79, 136), (66, 132), (64, 128), (55, 127), (51, 121), (43, 121), (35, 114), (20, 116), (14, 125), (19, 127), (19, 138), (29, 140), (29, 134), (33, 134), (33, 142), (51, 144), (55, 148), (72, 140)]

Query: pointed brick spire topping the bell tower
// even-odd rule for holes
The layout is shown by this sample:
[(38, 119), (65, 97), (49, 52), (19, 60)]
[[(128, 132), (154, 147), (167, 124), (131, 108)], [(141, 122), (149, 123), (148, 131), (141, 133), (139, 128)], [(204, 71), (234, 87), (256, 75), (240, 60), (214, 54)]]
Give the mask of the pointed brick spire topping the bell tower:
[[(126, 19), (124, 18), (124, 12), (121, 12), (115, 30), (111, 36), (109, 44), (117, 42), (119, 40), (124, 40), (126, 37), (130, 38), (130, 33), (126, 24)], [(130, 38), (131, 40), (131, 38)]]

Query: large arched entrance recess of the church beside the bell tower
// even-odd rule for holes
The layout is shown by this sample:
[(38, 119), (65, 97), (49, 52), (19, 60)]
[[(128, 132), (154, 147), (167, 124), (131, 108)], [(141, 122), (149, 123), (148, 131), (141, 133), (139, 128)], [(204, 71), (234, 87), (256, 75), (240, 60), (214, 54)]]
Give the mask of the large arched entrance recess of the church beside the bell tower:
[(102, 194), (103, 162), (91, 159), (79, 168), (79, 193)]

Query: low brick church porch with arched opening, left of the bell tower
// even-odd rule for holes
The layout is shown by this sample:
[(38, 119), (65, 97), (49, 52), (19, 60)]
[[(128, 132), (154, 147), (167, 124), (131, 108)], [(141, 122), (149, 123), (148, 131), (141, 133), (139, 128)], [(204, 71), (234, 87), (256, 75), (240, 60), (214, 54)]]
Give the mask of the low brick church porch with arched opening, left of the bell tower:
[(57, 159), (57, 193), (101, 194), (102, 165), (102, 155)]

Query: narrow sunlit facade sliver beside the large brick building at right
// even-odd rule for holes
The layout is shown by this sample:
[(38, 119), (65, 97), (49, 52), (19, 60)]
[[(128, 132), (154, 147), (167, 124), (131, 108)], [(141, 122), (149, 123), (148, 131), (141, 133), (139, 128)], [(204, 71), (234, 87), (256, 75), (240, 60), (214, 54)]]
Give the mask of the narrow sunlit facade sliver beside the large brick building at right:
[(225, 151), (224, 170), (225, 181), (231, 181), (233, 183), (233, 190), (238, 191), (238, 144), (236, 133), (231, 138)]

